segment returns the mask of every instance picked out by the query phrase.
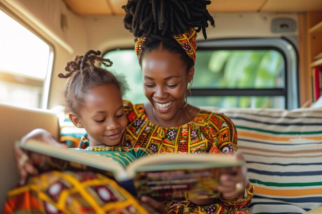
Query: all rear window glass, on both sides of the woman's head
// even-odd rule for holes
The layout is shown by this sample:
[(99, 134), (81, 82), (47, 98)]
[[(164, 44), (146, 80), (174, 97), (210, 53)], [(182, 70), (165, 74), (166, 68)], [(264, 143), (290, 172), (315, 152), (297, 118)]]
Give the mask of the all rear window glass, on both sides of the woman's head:
[[(192, 94), (188, 98), (190, 104), (223, 108), (286, 107), (285, 62), (280, 52), (272, 49), (199, 49), (197, 55)], [(113, 50), (105, 53), (104, 57), (113, 61), (112, 68), (115, 72), (127, 75), (132, 90), (126, 99), (133, 103), (146, 102), (141, 69), (134, 50)], [(211, 94), (216, 90), (220, 94), (220, 90), (224, 89), (228, 93), (231, 91), (231, 94), (227, 95), (227, 91), (220, 96)], [(238, 90), (243, 89), (247, 89), (245, 94), (236, 95)], [(259, 89), (265, 95), (259, 94)], [(198, 94), (194, 93), (196, 90)]]

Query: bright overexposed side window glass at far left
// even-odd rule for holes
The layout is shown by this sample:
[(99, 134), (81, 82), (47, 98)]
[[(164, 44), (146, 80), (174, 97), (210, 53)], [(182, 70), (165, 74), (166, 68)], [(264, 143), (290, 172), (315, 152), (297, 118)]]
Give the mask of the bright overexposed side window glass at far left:
[(0, 29), (0, 103), (46, 108), (49, 46), (1, 10)]

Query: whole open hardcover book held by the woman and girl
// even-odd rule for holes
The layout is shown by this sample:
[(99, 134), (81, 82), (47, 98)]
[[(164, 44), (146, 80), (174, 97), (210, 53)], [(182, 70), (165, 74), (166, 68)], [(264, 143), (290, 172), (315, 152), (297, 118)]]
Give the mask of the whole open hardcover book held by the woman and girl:
[(158, 201), (217, 198), (219, 174), (243, 164), (231, 155), (153, 154), (130, 163), (126, 168), (95, 152), (79, 152), (29, 140), (18, 144), (29, 153), (45, 155), (46, 170), (94, 170), (113, 179), (137, 197)]

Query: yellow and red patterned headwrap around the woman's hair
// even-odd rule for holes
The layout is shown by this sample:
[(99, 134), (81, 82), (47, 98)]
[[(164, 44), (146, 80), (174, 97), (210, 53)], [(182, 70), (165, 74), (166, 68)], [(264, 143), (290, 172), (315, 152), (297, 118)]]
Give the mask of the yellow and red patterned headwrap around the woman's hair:
[[(194, 28), (190, 28), (187, 32), (183, 34), (172, 35), (172, 37), (182, 46), (182, 48), (186, 51), (191, 60), (193, 60), (193, 63), (195, 63), (197, 34)], [(144, 43), (146, 39), (147, 37), (138, 38), (135, 44), (135, 53), (137, 56), (141, 54), (142, 43)]]

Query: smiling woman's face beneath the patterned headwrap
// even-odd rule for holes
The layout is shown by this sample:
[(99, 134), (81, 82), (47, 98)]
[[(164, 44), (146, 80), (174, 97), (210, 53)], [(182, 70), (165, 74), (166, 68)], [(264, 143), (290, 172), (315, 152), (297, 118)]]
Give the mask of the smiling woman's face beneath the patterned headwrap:
[(155, 110), (156, 119), (169, 121), (185, 105), (188, 83), (194, 68), (187, 66), (179, 54), (159, 48), (144, 55), (142, 76), (144, 93)]

